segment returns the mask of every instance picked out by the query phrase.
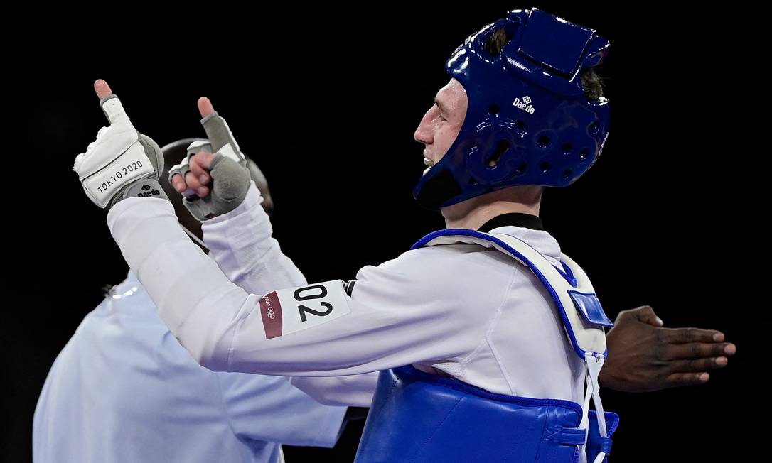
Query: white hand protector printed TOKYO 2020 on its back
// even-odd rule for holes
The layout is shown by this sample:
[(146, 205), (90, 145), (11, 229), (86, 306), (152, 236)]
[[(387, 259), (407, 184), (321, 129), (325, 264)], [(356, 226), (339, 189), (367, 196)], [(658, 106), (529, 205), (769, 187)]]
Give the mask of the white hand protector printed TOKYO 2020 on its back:
[(75, 158), (83, 191), (100, 208), (111, 208), (121, 199), (168, 199), (158, 177), (164, 168), (161, 148), (137, 132), (124, 106), (114, 94), (100, 101), (110, 127), (102, 127), (85, 154)]

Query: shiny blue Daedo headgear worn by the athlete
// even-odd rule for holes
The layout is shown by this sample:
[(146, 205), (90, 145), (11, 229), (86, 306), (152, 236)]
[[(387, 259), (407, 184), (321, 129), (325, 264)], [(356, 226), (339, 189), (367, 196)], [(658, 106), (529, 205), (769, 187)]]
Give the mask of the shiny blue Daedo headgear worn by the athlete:
[[(496, 29), (509, 43), (486, 49)], [(461, 131), (413, 195), (442, 208), (513, 185), (565, 187), (601, 154), (609, 103), (589, 101), (581, 72), (598, 66), (608, 40), (537, 8), (509, 12), (453, 52), (445, 69), (469, 98)]]

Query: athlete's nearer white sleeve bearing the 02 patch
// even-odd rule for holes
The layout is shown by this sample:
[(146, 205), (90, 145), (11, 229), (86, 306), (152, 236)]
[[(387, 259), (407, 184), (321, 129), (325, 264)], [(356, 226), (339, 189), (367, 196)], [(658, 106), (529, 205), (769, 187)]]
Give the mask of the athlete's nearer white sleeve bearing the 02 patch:
[(460, 361), (485, 338), (496, 310), (469, 310), (479, 288), (451, 277), (481, 269), (451, 266), (443, 255), (452, 250), (419, 249), (364, 267), (352, 296), (340, 280), (259, 296), (235, 286), (192, 244), (168, 201), (128, 198), (107, 221), (161, 319), (212, 370), (339, 376)]

